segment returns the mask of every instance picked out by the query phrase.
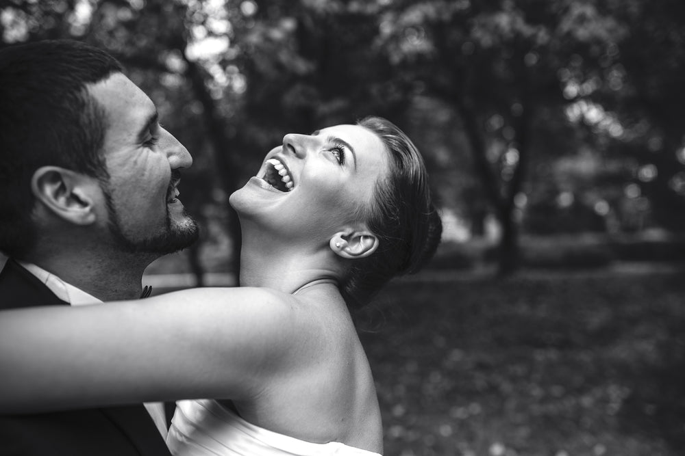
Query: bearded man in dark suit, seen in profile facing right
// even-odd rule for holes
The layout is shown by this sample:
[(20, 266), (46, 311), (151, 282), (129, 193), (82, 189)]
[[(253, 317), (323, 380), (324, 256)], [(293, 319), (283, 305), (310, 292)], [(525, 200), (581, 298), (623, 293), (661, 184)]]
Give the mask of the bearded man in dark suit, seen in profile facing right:
[[(153, 260), (197, 239), (177, 199), (192, 157), (110, 55), (3, 49), (0, 100), (0, 309), (138, 297)], [(0, 417), (0, 455), (168, 456), (170, 417), (145, 406)]]

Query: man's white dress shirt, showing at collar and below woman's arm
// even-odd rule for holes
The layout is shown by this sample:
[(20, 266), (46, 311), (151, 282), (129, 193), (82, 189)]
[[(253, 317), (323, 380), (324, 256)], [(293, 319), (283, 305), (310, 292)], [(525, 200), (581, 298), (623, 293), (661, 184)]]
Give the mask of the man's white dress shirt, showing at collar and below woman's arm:
[[(0, 271), (5, 267), (7, 263), (7, 256), (0, 252)], [(71, 306), (84, 306), (88, 304), (103, 304), (103, 301), (97, 299), (97, 297), (89, 295), (82, 289), (78, 289), (72, 284), (64, 282), (58, 276), (53, 273), (49, 273), (45, 269), (33, 265), (32, 263), (25, 263), (23, 261), (17, 261), (21, 266), (23, 266), (27, 271), (32, 273), (40, 282), (45, 284), (50, 291), (55, 293), (55, 295), (62, 299), (62, 301), (68, 302)], [(152, 420), (155, 422), (155, 426), (159, 429), (162, 434), (162, 438), (166, 440), (166, 435), (169, 430), (166, 429), (166, 414), (164, 413), (164, 403), (162, 402), (145, 402), (145, 409), (150, 414)]]

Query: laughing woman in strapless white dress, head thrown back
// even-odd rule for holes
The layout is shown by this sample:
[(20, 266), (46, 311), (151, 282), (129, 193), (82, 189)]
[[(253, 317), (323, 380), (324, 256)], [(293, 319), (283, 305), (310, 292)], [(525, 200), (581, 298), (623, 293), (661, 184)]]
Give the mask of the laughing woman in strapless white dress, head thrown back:
[(349, 308), (438, 244), (419, 152), (381, 118), (286, 135), (230, 202), (240, 288), (3, 312), (0, 413), (224, 398), (177, 403), (172, 453), (382, 453)]

